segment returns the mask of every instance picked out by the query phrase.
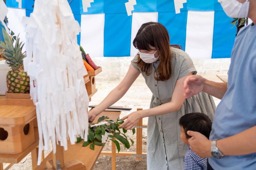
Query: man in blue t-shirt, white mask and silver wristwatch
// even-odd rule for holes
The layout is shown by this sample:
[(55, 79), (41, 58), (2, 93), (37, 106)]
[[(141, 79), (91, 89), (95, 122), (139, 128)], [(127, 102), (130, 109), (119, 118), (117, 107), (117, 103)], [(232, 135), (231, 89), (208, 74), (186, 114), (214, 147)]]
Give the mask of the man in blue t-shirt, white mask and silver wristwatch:
[[(198, 75), (184, 81), (185, 97), (204, 91), (222, 99), (212, 123), (210, 140), (188, 131), (190, 148), (209, 157), (208, 169), (256, 169), (256, 0), (218, 0), (229, 17), (249, 17), (253, 23), (238, 33), (228, 83)], [(223, 37), (225, 38), (225, 37)]]

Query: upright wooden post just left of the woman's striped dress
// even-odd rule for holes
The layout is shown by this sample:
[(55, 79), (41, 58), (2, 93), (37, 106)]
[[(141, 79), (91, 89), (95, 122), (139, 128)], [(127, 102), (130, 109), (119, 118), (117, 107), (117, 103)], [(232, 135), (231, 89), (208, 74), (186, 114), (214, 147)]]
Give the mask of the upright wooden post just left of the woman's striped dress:
[[(142, 108), (137, 108), (137, 111), (142, 110)], [(139, 120), (137, 123), (137, 126), (141, 127), (142, 126), (142, 119)], [(136, 129), (136, 154), (137, 155), (142, 155), (142, 128), (137, 128)], [(136, 161), (142, 161), (141, 156), (136, 157)]]

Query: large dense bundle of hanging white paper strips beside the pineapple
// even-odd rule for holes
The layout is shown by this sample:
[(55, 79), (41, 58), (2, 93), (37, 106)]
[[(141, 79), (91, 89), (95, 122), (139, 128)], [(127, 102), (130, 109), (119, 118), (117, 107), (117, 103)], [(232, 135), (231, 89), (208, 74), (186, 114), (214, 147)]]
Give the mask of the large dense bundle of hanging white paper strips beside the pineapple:
[(36, 0), (33, 13), (23, 23), (27, 25), (23, 62), (36, 105), (38, 153), (49, 150), (50, 141), (54, 153), (58, 141), (67, 150), (68, 140), (75, 144), (81, 136), (87, 141), (89, 126), (89, 97), (83, 79), (87, 71), (77, 44), (79, 23), (66, 0)]

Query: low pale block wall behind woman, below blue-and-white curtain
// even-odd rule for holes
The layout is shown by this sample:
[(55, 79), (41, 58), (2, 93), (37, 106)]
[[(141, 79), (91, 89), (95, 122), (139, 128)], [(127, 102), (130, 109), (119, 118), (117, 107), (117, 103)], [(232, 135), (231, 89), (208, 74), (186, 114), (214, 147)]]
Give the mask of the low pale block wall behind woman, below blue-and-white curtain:
[[(133, 57), (92, 57), (97, 66), (102, 67), (98, 80), (122, 80), (126, 75)], [(198, 75), (210, 79), (218, 79), (216, 74), (227, 74), (230, 58), (193, 59)], [(138, 81), (144, 81), (140, 75)]]

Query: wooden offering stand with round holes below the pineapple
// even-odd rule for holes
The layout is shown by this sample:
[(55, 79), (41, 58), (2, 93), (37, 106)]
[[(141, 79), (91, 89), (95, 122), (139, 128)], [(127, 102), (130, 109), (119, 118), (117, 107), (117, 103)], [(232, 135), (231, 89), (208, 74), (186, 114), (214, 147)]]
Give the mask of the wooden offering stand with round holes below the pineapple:
[(0, 153), (17, 154), (35, 142), (33, 120), (36, 107), (32, 100), (0, 100)]

